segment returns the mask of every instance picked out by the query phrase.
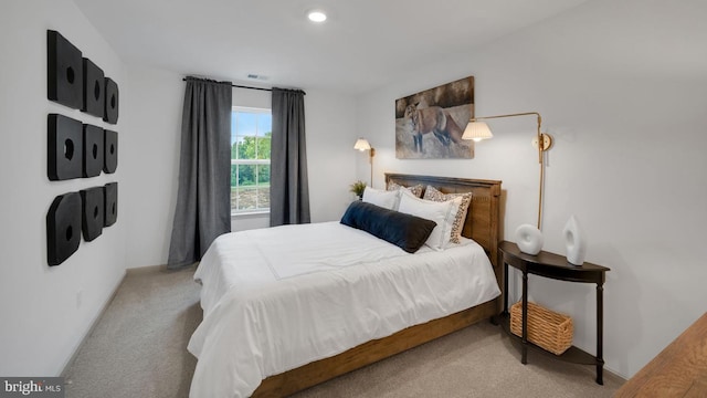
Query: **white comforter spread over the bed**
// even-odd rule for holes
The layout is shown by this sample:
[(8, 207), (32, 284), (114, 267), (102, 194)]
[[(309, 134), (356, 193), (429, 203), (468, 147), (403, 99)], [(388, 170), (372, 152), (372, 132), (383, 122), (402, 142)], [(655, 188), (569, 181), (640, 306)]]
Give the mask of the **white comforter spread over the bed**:
[(472, 240), (410, 254), (338, 222), (221, 235), (194, 279), (194, 398), (247, 397), (268, 376), (500, 294)]

